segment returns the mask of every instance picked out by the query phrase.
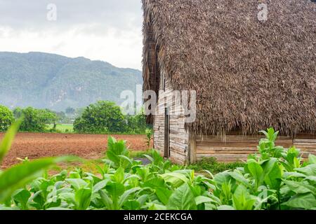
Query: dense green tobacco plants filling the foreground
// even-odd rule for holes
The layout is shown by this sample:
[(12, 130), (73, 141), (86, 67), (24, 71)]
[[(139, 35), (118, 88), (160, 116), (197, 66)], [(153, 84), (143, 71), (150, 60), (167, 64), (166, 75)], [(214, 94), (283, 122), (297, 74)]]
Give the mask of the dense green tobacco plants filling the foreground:
[[(151, 163), (143, 165), (129, 157), (125, 141), (110, 137), (108, 160), (97, 167), (98, 175), (82, 169), (70, 173), (63, 171), (54, 176), (44, 175), (25, 188), (11, 191), (11, 197), (2, 200), (1, 208), (316, 209), (315, 156), (310, 155), (306, 162), (301, 162), (296, 148), (285, 150), (274, 145), (277, 132), (270, 129), (266, 133), (265, 139), (260, 141), (258, 155), (249, 156), (242, 167), (232, 167), (216, 175), (209, 171), (205, 171), (205, 175), (195, 174), (193, 169), (172, 165), (154, 150), (145, 155)], [(2, 173), (0, 183), (14, 179), (14, 176), (23, 180), (26, 172), (11, 174), (12, 177)], [(4, 189), (1, 184), (0, 192)]]

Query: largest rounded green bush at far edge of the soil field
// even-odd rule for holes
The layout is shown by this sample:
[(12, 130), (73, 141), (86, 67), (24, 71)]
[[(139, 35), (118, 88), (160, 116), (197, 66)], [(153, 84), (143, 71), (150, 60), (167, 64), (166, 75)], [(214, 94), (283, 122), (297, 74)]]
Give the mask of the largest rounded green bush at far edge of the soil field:
[(87, 106), (74, 120), (74, 131), (83, 133), (126, 132), (126, 119), (114, 102), (99, 101)]

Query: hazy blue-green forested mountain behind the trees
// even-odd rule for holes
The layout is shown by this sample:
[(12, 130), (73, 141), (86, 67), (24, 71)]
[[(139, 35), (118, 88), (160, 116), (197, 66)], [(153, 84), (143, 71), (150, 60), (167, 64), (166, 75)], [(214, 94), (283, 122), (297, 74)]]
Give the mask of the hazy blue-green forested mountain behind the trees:
[(84, 57), (0, 52), (0, 104), (63, 111), (98, 100), (120, 104), (123, 90), (142, 85), (141, 71)]

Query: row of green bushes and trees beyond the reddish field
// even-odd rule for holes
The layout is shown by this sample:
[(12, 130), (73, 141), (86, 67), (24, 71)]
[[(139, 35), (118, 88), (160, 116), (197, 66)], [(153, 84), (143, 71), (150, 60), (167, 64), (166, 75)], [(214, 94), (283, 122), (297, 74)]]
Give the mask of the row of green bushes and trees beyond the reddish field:
[[(114, 102), (99, 101), (84, 109), (68, 108), (65, 112), (27, 107), (13, 111), (0, 105), (0, 132), (6, 132), (14, 120), (23, 117), (20, 132), (55, 132), (58, 123), (73, 123), (74, 132), (92, 134), (145, 134), (150, 125), (145, 114), (124, 115)], [(52, 125), (53, 127), (48, 127)]]

